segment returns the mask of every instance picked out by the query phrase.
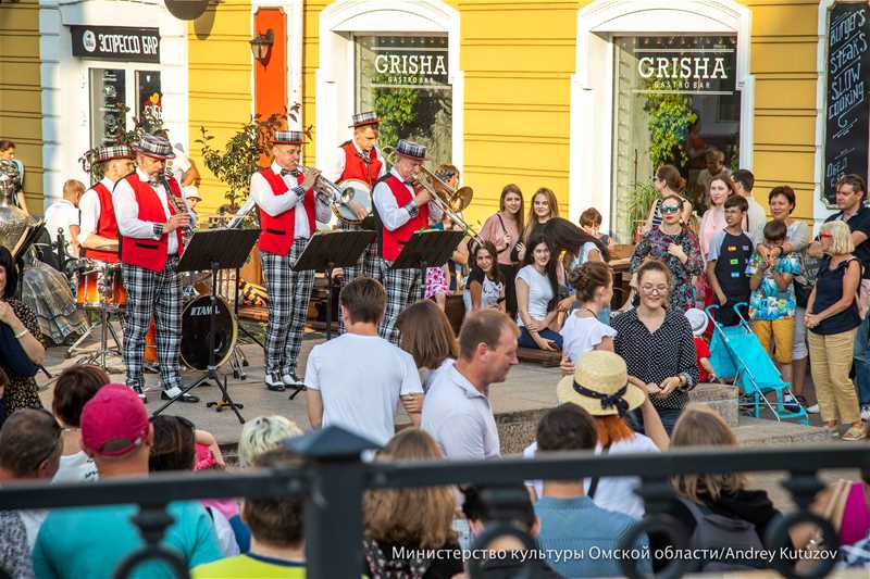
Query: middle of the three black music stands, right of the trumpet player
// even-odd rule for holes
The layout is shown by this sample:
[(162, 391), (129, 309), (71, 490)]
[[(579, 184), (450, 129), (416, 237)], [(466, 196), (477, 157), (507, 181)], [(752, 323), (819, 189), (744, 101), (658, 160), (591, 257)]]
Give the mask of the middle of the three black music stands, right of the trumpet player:
[[(326, 339), (332, 339), (333, 327), (333, 269), (356, 265), (362, 252), (374, 241), (376, 232), (368, 229), (358, 231), (324, 231), (315, 234), (301, 255), (293, 264), (294, 272), (324, 272), (326, 274)], [(298, 393), (294, 392), (294, 395)], [(293, 398), (293, 397), (290, 397)]]

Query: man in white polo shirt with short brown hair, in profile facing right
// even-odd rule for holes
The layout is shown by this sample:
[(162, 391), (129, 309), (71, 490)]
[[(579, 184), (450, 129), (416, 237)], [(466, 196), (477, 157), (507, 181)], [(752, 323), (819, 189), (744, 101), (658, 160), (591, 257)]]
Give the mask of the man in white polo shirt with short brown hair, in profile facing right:
[(498, 430), (489, 404), (489, 385), (504, 382), (518, 364), (520, 331), (510, 317), (483, 310), (465, 317), (459, 332), (459, 360), (440, 373), (423, 401), (423, 430), (447, 458), (499, 455)]

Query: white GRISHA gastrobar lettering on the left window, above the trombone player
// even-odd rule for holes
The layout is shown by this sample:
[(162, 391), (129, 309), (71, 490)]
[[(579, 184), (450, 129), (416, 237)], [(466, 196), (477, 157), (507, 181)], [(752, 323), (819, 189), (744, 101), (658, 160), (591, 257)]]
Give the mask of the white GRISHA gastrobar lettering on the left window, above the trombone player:
[[(447, 47), (425, 46), (432, 37), (398, 45), (393, 38), (380, 38), (374, 52), (374, 86), (438, 88), (447, 86)], [(439, 39), (440, 40), (440, 39)], [(446, 43), (446, 39), (445, 39)]]

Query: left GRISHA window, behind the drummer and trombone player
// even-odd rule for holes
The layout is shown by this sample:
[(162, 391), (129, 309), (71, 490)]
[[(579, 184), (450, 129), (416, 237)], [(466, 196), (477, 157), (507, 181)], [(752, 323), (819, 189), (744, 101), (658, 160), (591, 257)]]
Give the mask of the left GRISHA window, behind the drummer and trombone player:
[(383, 118), (381, 147), (410, 139), (434, 165), (452, 154), (452, 87), (447, 36), (355, 37), (356, 112)]

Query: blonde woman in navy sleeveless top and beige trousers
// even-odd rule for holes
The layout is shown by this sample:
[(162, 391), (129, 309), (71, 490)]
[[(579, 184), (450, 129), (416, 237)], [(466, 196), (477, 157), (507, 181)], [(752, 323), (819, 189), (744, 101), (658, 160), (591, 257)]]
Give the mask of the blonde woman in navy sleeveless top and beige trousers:
[(804, 317), (809, 329), (812, 383), (829, 435), (840, 437), (838, 416), (842, 423), (849, 425), (843, 440), (862, 440), (867, 432), (849, 378), (855, 335), (861, 325), (857, 302), (861, 265), (852, 254), (855, 244), (845, 223), (822, 225), (819, 242), (824, 256)]

